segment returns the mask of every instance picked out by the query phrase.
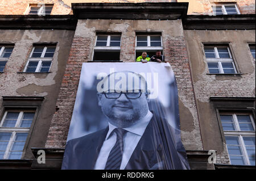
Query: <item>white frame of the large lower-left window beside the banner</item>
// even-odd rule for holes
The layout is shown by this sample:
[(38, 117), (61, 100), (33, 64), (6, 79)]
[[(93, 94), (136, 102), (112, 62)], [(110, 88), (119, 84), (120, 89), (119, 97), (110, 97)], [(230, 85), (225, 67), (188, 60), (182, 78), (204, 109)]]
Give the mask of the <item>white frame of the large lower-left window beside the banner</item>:
[[(16, 124), (15, 124), (15, 127), (2, 127), (3, 125), (3, 122), (5, 120), (5, 117), (7, 115), (8, 112), (19, 112), (19, 116), (18, 116), (18, 119), (16, 121)], [(15, 140), (15, 136), (16, 136), (16, 133), (29, 133), (30, 131), (30, 128), (19, 128), (19, 125), (22, 121), (22, 117), (23, 117), (23, 114), (24, 112), (34, 112), (35, 111), (30, 111), (30, 110), (24, 110), (24, 111), (15, 111), (15, 110), (8, 110), (8, 111), (5, 111), (3, 117), (2, 117), (2, 120), (1, 120), (1, 123), (0, 123), (0, 133), (11, 133), (11, 137), (10, 137), (10, 140), (7, 144), (7, 147), (6, 147), (6, 150), (5, 150), (5, 154), (3, 155), (3, 159), (8, 159), (9, 155), (10, 155), (10, 150), (13, 146), (13, 143), (14, 143), (14, 140)], [(35, 115), (33, 117), (33, 120), (35, 118)], [(26, 139), (27, 141), (27, 139)], [(26, 141), (25, 141), (25, 145), (26, 145)], [(25, 146), (23, 147), (23, 150), (22, 152), (24, 153), (24, 148)], [(22, 158), (22, 157), (21, 157)]]

